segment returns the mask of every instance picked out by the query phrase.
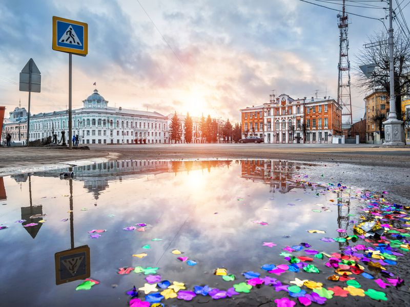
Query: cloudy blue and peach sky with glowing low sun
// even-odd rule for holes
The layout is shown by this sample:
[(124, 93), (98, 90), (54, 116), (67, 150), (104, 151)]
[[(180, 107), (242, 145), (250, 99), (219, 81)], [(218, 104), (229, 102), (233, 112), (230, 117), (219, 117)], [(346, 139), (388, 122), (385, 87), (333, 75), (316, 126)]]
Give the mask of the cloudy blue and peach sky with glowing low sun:
[[(347, 11), (386, 15), (376, 8)], [(403, 12), (408, 16), (410, 5)], [(6, 114), (19, 100), (27, 108), (19, 72), (33, 58), (42, 73), (42, 92), (32, 94), (31, 113), (67, 108), (68, 54), (51, 48), (52, 16), (88, 24), (88, 55), (73, 56), (73, 108), (83, 106), (94, 82), (109, 106), (210, 114), (233, 122), (240, 119), (239, 109), (269, 102), (272, 90), (295, 99), (316, 91), (318, 97), (336, 98), (336, 15), (299, 0), (0, 0), (0, 105)], [(363, 43), (383, 25), (354, 15), (349, 20), (354, 67)], [(356, 121), (364, 115), (365, 95), (354, 84), (352, 71)]]

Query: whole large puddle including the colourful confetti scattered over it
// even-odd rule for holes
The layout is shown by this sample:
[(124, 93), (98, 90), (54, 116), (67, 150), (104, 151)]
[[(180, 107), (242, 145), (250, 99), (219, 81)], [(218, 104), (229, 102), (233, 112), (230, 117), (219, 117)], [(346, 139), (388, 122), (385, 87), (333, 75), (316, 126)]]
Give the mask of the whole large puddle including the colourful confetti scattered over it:
[[(163, 298), (166, 306), (406, 305), (408, 210), (382, 189), (312, 183), (305, 169), (277, 160), (113, 161), (73, 167), (74, 179), (59, 170), (0, 178), (2, 304), (149, 306), (143, 301), (162, 293), (179, 296)], [(360, 216), (378, 216), (385, 237), (355, 237)], [(165, 280), (187, 289), (164, 292)], [(202, 295), (206, 285), (214, 290)], [(141, 301), (126, 294), (133, 286), (144, 288)], [(146, 297), (150, 287), (157, 292)], [(372, 299), (380, 293), (387, 301)]]

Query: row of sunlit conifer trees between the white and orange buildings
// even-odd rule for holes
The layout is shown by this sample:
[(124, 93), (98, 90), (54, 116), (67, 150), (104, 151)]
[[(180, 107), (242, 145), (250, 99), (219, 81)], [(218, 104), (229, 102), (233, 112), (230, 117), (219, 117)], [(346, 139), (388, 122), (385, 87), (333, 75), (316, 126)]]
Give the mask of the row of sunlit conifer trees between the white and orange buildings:
[[(183, 140), (182, 127), (185, 131)], [(175, 143), (181, 141), (185, 141), (185, 143), (217, 143), (218, 135), (219, 142), (226, 142), (227, 140), (238, 142), (241, 139), (241, 125), (239, 123), (236, 123), (235, 126), (233, 126), (229, 119), (227, 119), (227, 121), (222, 124), (215, 118), (211, 118), (210, 115), (208, 115), (207, 118), (204, 118), (204, 116), (202, 115), (199, 124), (194, 130), (192, 117), (189, 115), (189, 113), (187, 113), (185, 120), (182, 122), (175, 111), (174, 115), (171, 118), (169, 128), (170, 140), (171, 142)]]

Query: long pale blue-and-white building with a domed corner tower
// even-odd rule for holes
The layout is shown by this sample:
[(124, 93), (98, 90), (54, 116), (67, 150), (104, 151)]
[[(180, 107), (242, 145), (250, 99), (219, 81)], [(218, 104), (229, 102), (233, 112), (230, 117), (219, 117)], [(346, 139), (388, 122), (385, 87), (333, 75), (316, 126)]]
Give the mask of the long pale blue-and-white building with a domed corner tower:
[[(80, 144), (167, 143), (168, 118), (157, 112), (109, 107), (97, 90), (83, 100), (83, 107), (72, 111), (73, 135)], [(45, 139), (66, 131), (68, 111), (38, 113), (30, 117), (30, 141)]]

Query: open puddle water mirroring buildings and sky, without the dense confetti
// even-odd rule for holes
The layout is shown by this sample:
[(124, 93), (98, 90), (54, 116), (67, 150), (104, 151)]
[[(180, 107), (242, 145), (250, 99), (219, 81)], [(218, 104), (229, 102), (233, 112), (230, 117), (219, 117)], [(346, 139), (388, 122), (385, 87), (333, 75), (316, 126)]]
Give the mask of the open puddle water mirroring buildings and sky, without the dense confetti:
[[(349, 227), (350, 195), (322, 193), (326, 188), (305, 182), (299, 170), (299, 164), (276, 160), (112, 161), (73, 167), (74, 179), (68, 180), (59, 179), (61, 170), (5, 178), (7, 205), (0, 206), (0, 223), (7, 222), (9, 228), (0, 233), (0, 256), (13, 274), (4, 270), (0, 278), (7, 281), (7, 303), (24, 304), (18, 295), (23, 286), (31, 298), (55, 301), (58, 297), (61, 305), (126, 305), (124, 291), (134, 284), (142, 286), (145, 279), (134, 273), (117, 274), (121, 267), (159, 267), (164, 278), (212, 287), (221, 282), (212, 274), (215, 268), (228, 268), (237, 276), (258, 270), (262, 264), (283, 261), (280, 246), (310, 242), (318, 250), (334, 252), (338, 244), (346, 243), (323, 243), (306, 230), (344, 236), (336, 229)], [(45, 223), (30, 219), (44, 213)], [(38, 229), (14, 223), (20, 218), (37, 223)], [(138, 223), (148, 224), (146, 231), (123, 230)], [(107, 232), (90, 238), (93, 229)], [(28, 238), (27, 231), (35, 240)], [(274, 242), (278, 248), (262, 247), (263, 242)], [(147, 245), (149, 249), (142, 249)], [(75, 250), (81, 246), (91, 250), (89, 265), (83, 261), (87, 253), (83, 256)], [(197, 265), (181, 263), (172, 249), (181, 250)], [(74, 275), (85, 278), (83, 273), (89, 270), (88, 276), (101, 281), (92, 294), (75, 292), (79, 281), (55, 286), (56, 276), (68, 268), (62, 262), (67, 258), (52, 255), (65, 251), (72, 252), (68, 260)], [(141, 252), (147, 256), (132, 257)], [(77, 269), (75, 259), (81, 264)], [(294, 277), (292, 272), (286, 274)], [(78, 276), (66, 272), (59, 279), (74, 277)]]

